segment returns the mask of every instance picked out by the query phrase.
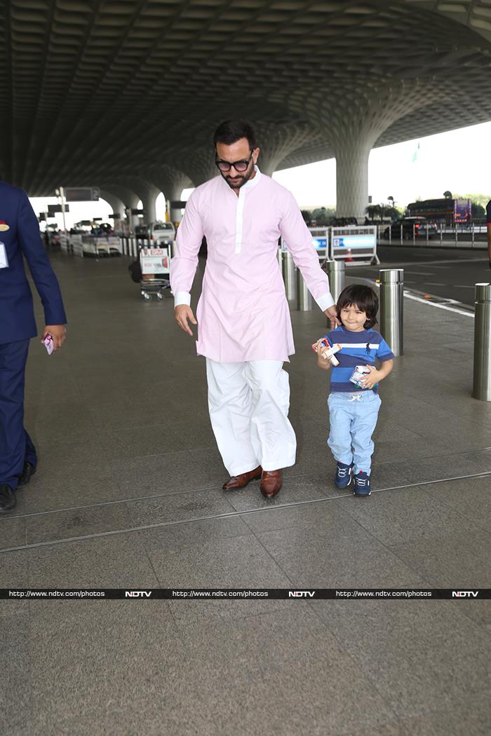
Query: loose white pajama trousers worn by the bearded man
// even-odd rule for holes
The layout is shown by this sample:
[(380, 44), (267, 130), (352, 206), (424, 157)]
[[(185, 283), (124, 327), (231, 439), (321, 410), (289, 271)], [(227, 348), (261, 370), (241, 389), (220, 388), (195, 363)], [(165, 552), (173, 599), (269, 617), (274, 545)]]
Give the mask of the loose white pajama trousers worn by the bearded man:
[(297, 439), (288, 419), (289, 375), (283, 362), (206, 358), (206, 375), (211, 426), (230, 475), (258, 465), (263, 470), (294, 465)]

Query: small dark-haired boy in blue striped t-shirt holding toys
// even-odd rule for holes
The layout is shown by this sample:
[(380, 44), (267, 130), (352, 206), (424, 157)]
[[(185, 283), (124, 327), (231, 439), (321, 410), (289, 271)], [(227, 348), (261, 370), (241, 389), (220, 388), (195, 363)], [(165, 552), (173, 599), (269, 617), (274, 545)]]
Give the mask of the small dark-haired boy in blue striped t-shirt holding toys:
[[(334, 483), (347, 488), (354, 472), (355, 495), (369, 496), (372, 433), (381, 405), (378, 383), (392, 371), (394, 355), (380, 333), (372, 329), (377, 321), (378, 296), (370, 286), (347, 286), (339, 294), (336, 307), (342, 326), (331, 330), (325, 339), (330, 346), (341, 345), (336, 353), (339, 366), (331, 368), (331, 361), (322, 357), (322, 346), (317, 344), (317, 365), (331, 369), (328, 445), (337, 462)], [(381, 362), (378, 369), (375, 360)], [(357, 386), (350, 377), (360, 365), (370, 372)]]

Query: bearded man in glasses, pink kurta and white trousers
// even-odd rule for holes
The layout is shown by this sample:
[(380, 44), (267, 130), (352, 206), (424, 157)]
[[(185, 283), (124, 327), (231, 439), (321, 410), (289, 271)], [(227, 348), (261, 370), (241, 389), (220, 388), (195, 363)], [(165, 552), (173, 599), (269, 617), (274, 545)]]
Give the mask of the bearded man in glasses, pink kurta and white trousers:
[(192, 334), (190, 291), (205, 236), (197, 353), (206, 358), (211, 424), (231, 475), (224, 488), (261, 477), (261, 492), (271, 498), (296, 450), (282, 369), (294, 342), (277, 259), (280, 236), (319, 308), (331, 320), (336, 310), (294, 197), (256, 166), (259, 149), (250, 126), (227, 121), (214, 143), (222, 176), (195, 189), (177, 231), (171, 263), (176, 320)]

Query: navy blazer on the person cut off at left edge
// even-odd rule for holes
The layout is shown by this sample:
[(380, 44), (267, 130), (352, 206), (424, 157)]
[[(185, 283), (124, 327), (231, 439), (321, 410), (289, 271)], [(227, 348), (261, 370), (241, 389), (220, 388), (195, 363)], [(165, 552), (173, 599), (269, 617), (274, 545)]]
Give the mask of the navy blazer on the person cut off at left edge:
[(8, 268), (0, 269), (0, 344), (38, 334), (23, 255), (43, 303), (45, 324), (65, 325), (60, 285), (41, 243), (31, 203), (25, 191), (1, 181), (0, 242), (9, 263)]

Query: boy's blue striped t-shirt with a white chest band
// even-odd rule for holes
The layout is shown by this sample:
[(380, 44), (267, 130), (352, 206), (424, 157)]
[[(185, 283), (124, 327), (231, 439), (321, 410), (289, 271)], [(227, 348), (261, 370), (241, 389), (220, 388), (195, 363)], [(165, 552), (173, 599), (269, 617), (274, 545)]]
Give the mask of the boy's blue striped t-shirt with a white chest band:
[(392, 353), (392, 350), (381, 334), (376, 330), (351, 332), (342, 326), (331, 330), (325, 337), (330, 345), (338, 342), (342, 347), (339, 353), (336, 353), (339, 366), (331, 368), (331, 392), (376, 392), (378, 383), (375, 384), (373, 389), (361, 389), (361, 386), (351, 383), (350, 377), (353, 374), (355, 366), (375, 366), (375, 360), (389, 361), (394, 357), (394, 353)]

